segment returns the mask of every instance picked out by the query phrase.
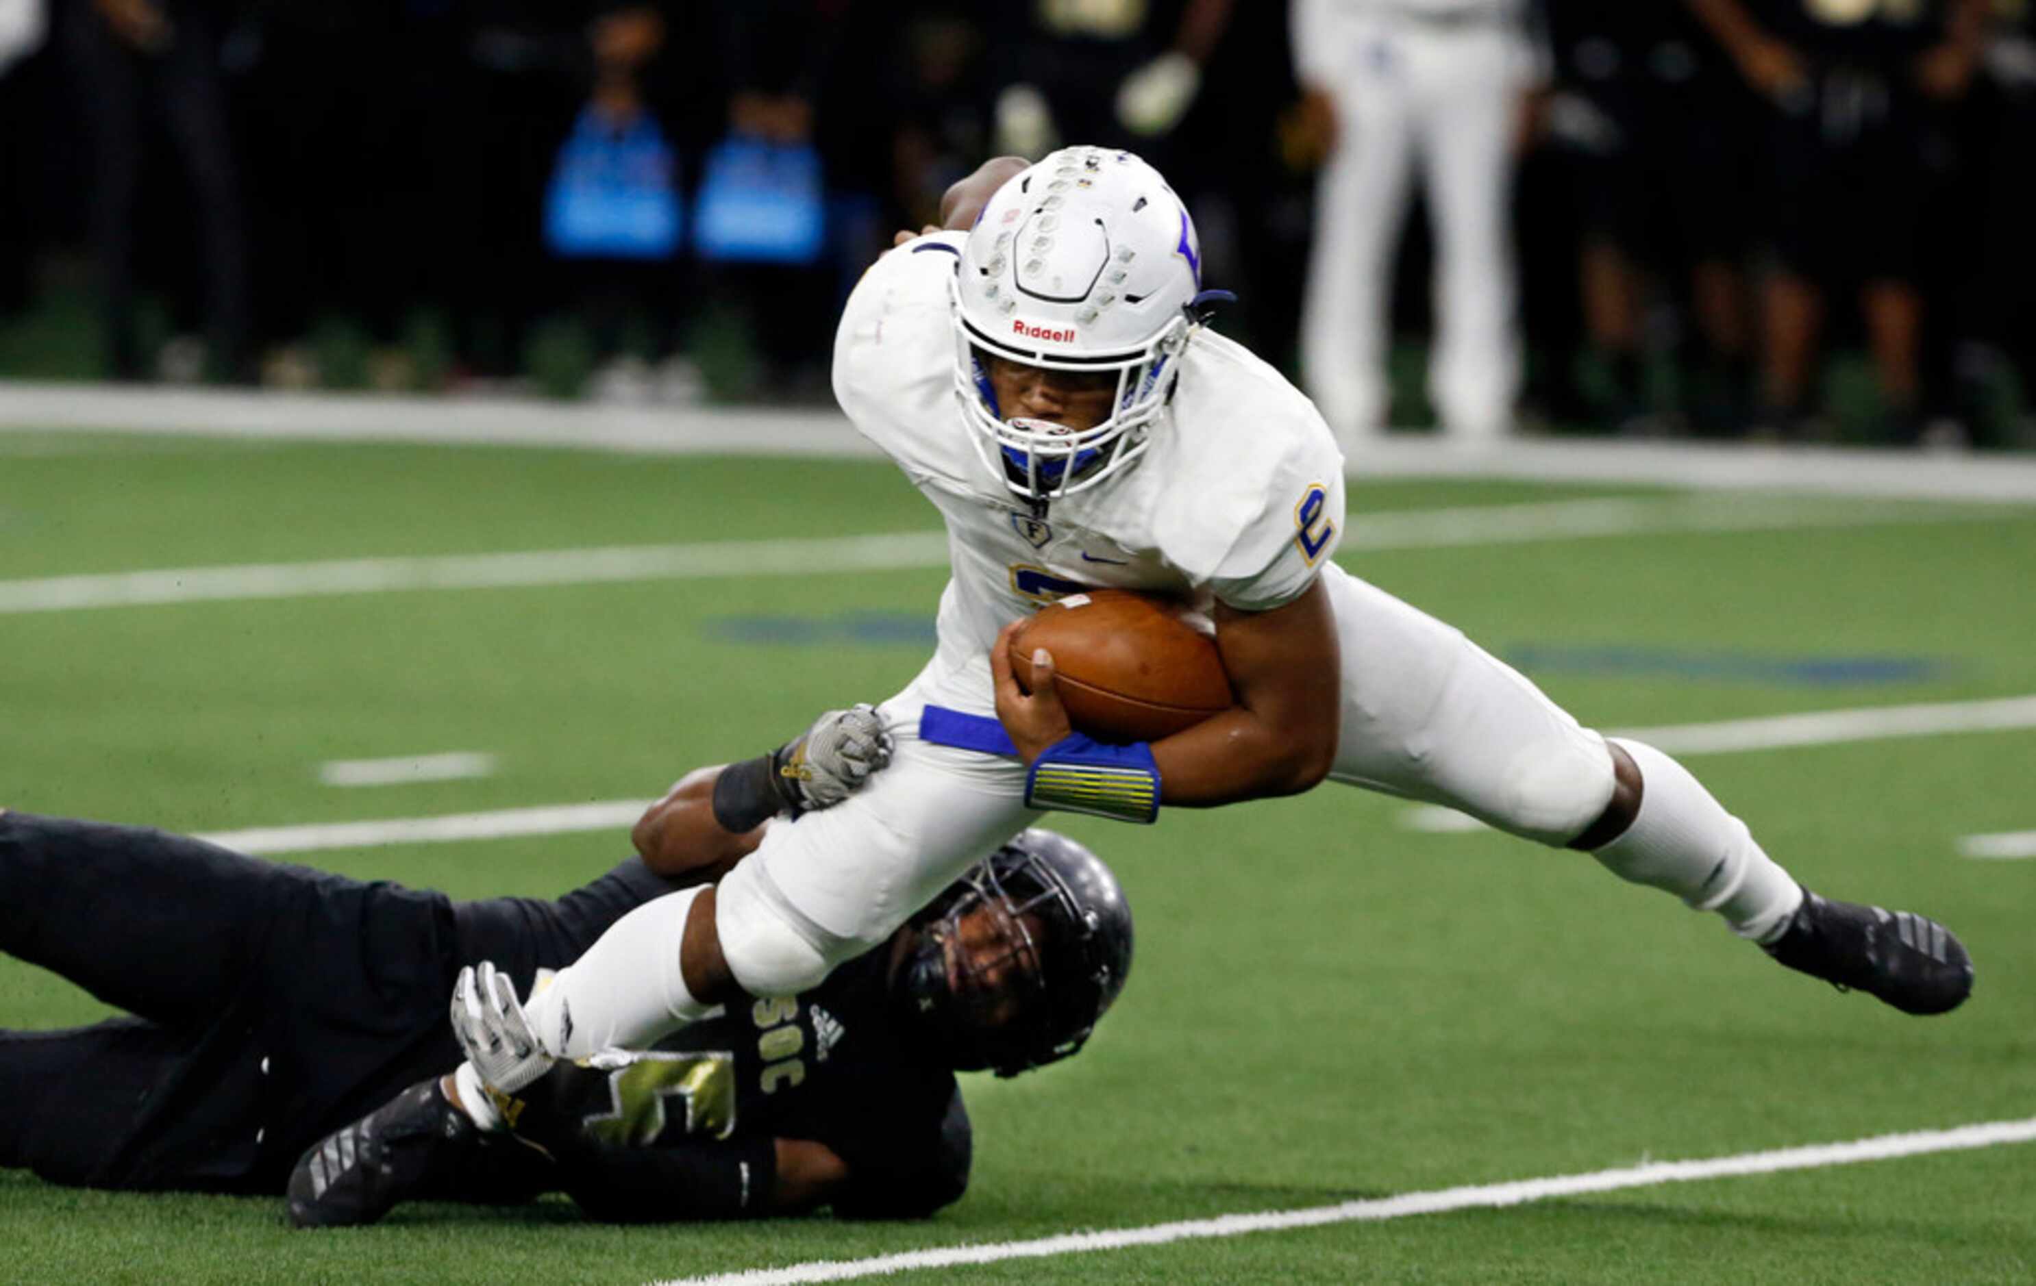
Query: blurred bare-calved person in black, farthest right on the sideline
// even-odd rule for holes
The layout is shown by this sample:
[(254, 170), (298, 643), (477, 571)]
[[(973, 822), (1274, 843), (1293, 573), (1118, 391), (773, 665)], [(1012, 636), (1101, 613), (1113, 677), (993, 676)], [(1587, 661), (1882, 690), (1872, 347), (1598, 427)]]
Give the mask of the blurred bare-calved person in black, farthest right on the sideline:
[(1771, 102), (1777, 269), (1763, 289), (1761, 417), (1812, 409), (1824, 297), (1859, 291), (1891, 435), (1924, 423), (1920, 240), (1953, 161), (1946, 110), (1979, 65), (1987, 0), (1688, 0)]

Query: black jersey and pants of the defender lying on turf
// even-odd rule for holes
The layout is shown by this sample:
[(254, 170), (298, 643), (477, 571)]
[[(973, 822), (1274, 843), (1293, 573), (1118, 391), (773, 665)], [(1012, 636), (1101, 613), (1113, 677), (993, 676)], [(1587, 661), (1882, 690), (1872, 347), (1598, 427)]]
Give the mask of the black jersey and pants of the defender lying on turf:
[[(0, 812), (0, 950), (136, 1015), (0, 1032), (0, 1103), (35, 1105), (0, 1113), (0, 1166), (106, 1188), (281, 1192), (314, 1142), (460, 1062), (446, 1024), (460, 965), (495, 960), (527, 995), (542, 969), (672, 889), (631, 859), (558, 901), (454, 905), (159, 830)], [(955, 1201), (967, 1115), (953, 1074), (886, 1003), (888, 954), (696, 1024), (635, 1078), (556, 1072), (576, 1089), (554, 1115), (580, 1144), (535, 1172), (509, 1160), (529, 1150), (497, 1150), (466, 1168), (462, 1192), (623, 1192), (635, 1203), (605, 1203), (621, 1217), (761, 1213), (739, 1201), (739, 1166), (761, 1182), (774, 1139), (794, 1137), (847, 1160), (841, 1213)], [(658, 1119), (635, 1137), (625, 1127)], [(615, 1148), (617, 1131), (652, 1146)], [(652, 1201), (674, 1174), (690, 1192)]]

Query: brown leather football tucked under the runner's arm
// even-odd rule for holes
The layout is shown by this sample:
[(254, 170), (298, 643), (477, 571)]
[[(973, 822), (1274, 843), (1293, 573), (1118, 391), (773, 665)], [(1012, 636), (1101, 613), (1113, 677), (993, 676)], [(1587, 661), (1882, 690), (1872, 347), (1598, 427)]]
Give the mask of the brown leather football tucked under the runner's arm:
[(1028, 694), (1040, 647), (1069, 722), (1097, 741), (1158, 741), (1232, 706), (1215, 641), (1167, 598), (1087, 590), (1042, 606), (1010, 641)]

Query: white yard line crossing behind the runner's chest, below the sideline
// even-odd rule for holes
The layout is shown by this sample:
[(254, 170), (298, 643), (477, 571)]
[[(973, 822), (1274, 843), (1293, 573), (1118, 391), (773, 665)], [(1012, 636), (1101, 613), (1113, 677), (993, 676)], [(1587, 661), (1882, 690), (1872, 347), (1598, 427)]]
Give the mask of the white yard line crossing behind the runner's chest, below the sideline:
[[(1348, 521), (1344, 547), (1423, 549), (1507, 545), (1594, 535), (1985, 521), (1997, 515), (1999, 511), (1991, 509), (1832, 507), (1830, 503), (1749, 503), (1745, 499), (1722, 496), (1551, 501), (1360, 515)], [(609, 545), (527, 553), (350, 558), (336, 562), (161, 568), (153, 572), (0, 580), (0, 615), (159, 606), (171, 602), (385, 594), (401, 590), (900, 572), (941, 566), (947, 566), (947, 535), (941, 531), (774, 541), (700, 541), (688, 545)]]

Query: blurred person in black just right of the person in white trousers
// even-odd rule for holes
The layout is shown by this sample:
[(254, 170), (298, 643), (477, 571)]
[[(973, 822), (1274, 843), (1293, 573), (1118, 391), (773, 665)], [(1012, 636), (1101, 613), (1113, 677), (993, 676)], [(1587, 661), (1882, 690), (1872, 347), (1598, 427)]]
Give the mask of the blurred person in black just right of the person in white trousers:
[[(1743, 262), (1757, 203), (1757, 106), (1731, 65), (1674, 4), (1547, 0), (1560, 92), (1549, 134), (1582, 216), (1584, 330), (1608, 376), (1613, 427), (1645, 431), (1649, 285), (1686, 301), (1682, 407), (1700, 427), (1743, 429), (1751, 305)], [(1653, 283), (1649, 283), (1649, 275)]]

